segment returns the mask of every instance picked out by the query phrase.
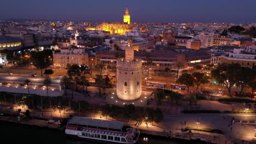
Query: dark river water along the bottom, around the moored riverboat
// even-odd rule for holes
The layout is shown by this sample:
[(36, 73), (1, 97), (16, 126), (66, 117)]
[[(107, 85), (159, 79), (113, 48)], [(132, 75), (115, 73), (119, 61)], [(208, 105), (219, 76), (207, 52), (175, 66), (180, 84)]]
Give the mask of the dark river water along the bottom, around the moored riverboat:
[[(86, 142), (77, 139), (65, 137), (64, 131), (24, 125), (19, 123), (11, 123), (0, 121), (0, 143), (3, 144), (19, 144), (19, 143), (56, 143), (56, 144), (94, 144), (97, 142)], [(143, 137), (148, 137), (148, 141), (143, 141)], [(202, 143), (197, 141), (187, 141), (178, 139), (168, 139), (165, 137), (141, 135), (139, 144), (183, 144), (183, 143)]]

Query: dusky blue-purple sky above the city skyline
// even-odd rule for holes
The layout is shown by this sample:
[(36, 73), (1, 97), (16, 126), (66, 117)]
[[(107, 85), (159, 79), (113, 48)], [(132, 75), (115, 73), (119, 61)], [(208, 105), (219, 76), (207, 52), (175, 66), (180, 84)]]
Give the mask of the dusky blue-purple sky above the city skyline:
[(0, 20), (256, 22), (256, 0), (1, 0)]

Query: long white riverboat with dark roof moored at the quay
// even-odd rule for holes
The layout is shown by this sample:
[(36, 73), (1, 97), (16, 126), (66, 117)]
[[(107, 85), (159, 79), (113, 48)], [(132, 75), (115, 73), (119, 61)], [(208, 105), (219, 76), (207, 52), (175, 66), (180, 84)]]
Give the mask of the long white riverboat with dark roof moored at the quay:
[(136, 143), (140, 131), (125, 122), (73, 117), (67, 123), (65, 134), (104, 143)]

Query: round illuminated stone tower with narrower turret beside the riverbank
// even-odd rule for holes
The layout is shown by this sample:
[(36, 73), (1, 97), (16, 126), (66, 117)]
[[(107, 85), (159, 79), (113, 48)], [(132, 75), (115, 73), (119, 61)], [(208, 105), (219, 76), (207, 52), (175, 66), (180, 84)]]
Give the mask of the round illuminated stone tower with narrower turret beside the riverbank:
[(134, 59), (132, 38), (127, 40), (125, 59), (117, 61), (117, 97), (124, 101), (133, 101), (141, 97), (142, 62)]

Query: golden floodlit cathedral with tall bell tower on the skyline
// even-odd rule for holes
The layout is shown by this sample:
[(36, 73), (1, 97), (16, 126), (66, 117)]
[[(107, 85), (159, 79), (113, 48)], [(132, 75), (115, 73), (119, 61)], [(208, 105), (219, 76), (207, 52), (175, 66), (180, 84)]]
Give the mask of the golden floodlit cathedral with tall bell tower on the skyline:
[(131, 32), (132, 27), (135, 27), (135, 24), (131, 23), (131, 16), (129, 14), (129, 10), (126, 7), (125, 14), (124, 14), (124, 22), (102, 22), (96, 28), (88, 27), (86, 30), (103, 30), (110, 32), (110, 34), (117, 34), (117, 35), (125, 35), (125, 32)]

